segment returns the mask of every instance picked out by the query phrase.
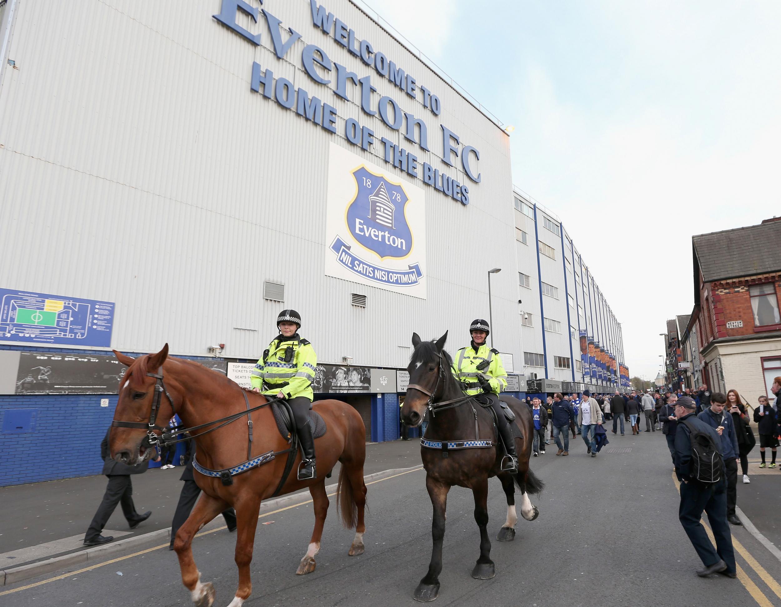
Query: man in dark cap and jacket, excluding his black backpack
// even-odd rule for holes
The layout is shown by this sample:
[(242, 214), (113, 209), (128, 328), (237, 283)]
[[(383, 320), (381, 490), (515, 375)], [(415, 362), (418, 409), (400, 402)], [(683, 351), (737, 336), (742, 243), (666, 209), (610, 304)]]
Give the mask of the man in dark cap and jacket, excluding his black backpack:
[[(723, 573), (726, 577), (736, 577), (735, 552), (727, 523), (725, 471), (722, 470), (721, 478), (715, 483), (705, 484), (694, 478), (691, 466), (691, 430), (687, 424), (691, 424), (699, 432), (709, 434), (719, 450), (722, 448), (721, 438), (707, 423), (697, 419), (694, 415), (695, 409), (697, 404), (694, 399), (687, 396), (676, 402), (676, 474), (681, 483), (678, 518), (705, 566), (703, 570), (697, 571), (697, 575), (708, 577), (711, 573)], [(708, 522), (711, 523), (711, 530), (716, 538), (716, 548), (711, 544), (700, 522), (703, 511), (708, 514)]]

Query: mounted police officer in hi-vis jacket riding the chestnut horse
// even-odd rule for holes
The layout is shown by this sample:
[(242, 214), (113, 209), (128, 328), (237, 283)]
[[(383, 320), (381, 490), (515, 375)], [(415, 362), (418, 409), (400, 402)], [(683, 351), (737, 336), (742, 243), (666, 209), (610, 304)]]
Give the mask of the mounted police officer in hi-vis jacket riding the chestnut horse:
[(304, 454), (298, 467), (298, 480), (308, 480), (317, 476), (315, 441), (308, 416), (312, 409), (312, 380), (315, 379), (317, 355), (312, 344), (298, 335), (301, 316), (295, 310), (282, 310), (276, 319), (276, 328), (280, 334), (252, 370), (252, 389), (269, 397), (285, 398), (291, 405)]

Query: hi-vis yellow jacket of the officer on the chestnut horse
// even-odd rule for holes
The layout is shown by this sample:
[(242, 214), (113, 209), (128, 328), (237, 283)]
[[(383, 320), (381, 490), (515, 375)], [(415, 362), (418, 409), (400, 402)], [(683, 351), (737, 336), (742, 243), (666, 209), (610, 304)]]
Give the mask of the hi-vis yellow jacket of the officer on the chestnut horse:
[(280, 337), (269, 344), (252, 370), (252, 387), (268, 396), (282, 392), (287, 398), (303, 396), (311, 401), (317, 366), (315, 348), (298, 334), (285, 341), (280, 341)]

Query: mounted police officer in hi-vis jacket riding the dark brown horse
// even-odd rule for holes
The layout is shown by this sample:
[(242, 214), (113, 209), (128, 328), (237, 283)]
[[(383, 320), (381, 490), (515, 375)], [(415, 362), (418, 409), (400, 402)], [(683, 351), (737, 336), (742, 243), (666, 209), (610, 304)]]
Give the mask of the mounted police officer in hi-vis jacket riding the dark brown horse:
[(476, 319), (469, 326), (472, 342), (456, 352), (453, 359), (453, 374), (468, 395), (481, 395), (478, 400), (490, 402), (496, 412), (501, 441), (505, 444), (507, 456), (501, 460), (501, 470), (518, 471), (518, 453), (515, 451), (515, 437), (505, 418), (505, 411), (499, 402), (499, 392), (507, 387), (507, 373), (501, 363), (499, 351), (488, 348), (486, 337), (490, 332), (487, 321)]

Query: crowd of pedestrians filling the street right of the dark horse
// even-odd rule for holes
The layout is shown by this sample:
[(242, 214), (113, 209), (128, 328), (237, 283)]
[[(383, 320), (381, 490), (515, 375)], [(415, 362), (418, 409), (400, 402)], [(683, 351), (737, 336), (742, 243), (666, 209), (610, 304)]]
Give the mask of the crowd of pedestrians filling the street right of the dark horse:
[[(707, 577), (722, 573), (736, 577), (729, 523), (740, 525), (736, 514), (737, 482), (748, 476), (748, 454), (757, 443), (753, 421), (759, 434), (760, 468), (776, 468), (776, 452), (781, 434), (781, 377), (771, 387), (774, 398), (761, 396), (750, 408), (736, 390), (711, 392), (707, 385), (698, 390), (661, 392), (632, 391), (612, 396), (569, 396), (556, 393), (542, 403), (527, 398), (534, 422), (533, 455), (543, 455), (545, 445), (555, 442), (556, 455), (569, 455), (569, 434), (581, 434), (587, 455), (597, 456), (604, 434), (604, 422), (612, 420), (612, 433), (625, 434), (625, 423), (633, 436), (661, 430), (672, 458), (672, 470), (680, 481), (679, 520), (704, 568), (697, 575)], [(640, 430), (640, 419), (645, 420)], [(597, 430), (598, 429), (598, 430)], [(771, 459), (767, 461), (766, 450)], [(740, 462), (740, 473), (738, 463)], [(781, 469), (779, 469), (781, 470)], [(703, 513), (713, 530), (716, 545), (708, 539), (702, 523)]]

